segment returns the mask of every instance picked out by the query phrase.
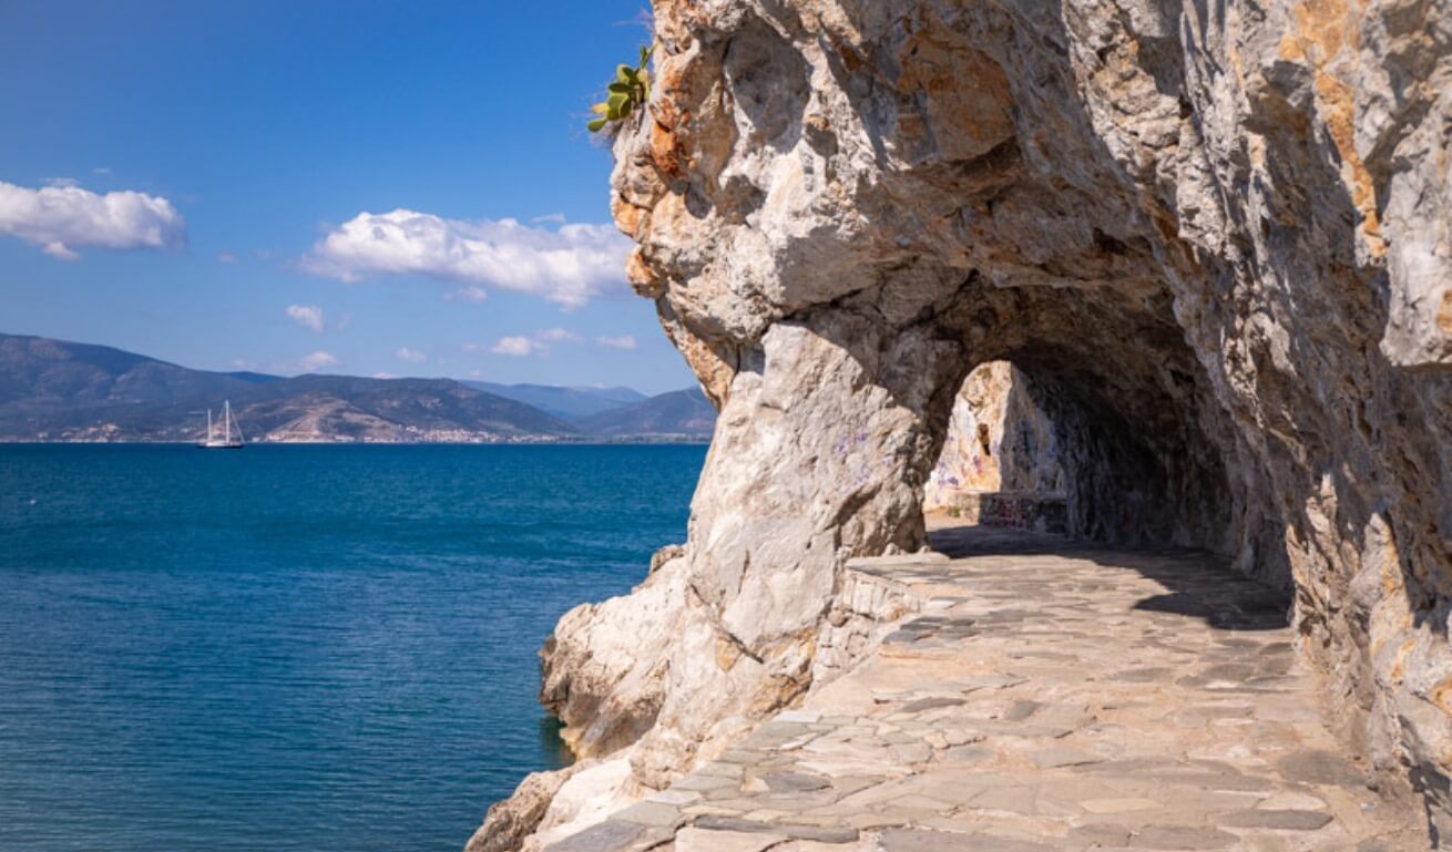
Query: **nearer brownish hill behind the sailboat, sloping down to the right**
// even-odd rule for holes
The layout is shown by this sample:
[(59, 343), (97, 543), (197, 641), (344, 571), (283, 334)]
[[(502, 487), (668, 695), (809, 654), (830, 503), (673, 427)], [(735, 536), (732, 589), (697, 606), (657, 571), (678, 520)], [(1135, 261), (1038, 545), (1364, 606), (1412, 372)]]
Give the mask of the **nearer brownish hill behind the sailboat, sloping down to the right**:
[(578, 438), (534, 406), (452, 379), (211, 373), (122, 350), (0, 335), (0, 440), (190, 441), (232, 401), (250, 440)]

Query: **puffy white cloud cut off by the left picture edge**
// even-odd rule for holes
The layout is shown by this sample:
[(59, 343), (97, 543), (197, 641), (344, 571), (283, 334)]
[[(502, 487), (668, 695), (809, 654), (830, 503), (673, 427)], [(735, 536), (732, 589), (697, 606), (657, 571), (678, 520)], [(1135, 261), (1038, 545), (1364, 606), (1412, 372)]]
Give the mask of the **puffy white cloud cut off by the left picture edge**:
[(78, 186), (28, 189), (0, 181), (0, 234), (76, 260), (77, 248), (176, 248), (186, 222), (171, 202), (138, 192), (96, 194)]

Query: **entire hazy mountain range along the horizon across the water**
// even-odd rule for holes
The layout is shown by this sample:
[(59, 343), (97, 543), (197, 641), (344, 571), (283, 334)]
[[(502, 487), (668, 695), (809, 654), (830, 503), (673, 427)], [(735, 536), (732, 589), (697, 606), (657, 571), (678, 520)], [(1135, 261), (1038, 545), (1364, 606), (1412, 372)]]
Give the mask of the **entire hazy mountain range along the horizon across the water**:
[(105, 345), (0, 334), (0, 441), (195, 441), (231, 401), (248, 441), (709, 440), (700, 389), (192, 370)]

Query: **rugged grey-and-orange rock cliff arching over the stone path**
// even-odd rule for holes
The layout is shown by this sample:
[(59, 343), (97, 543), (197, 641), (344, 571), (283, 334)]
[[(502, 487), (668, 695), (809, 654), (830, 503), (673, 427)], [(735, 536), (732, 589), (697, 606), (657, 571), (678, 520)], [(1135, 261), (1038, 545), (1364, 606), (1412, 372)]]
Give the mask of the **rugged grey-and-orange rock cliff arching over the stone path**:
[(1452, 6), (653, 12), (613, 212), (720, 419), (684, 550), (544, 650), (575, 750), (661, 788), (851, 665), (845, 562), (923, 546), (1008, 360), (1070, 533), (1284, 592), (1337, 734), (1452, 829)]

